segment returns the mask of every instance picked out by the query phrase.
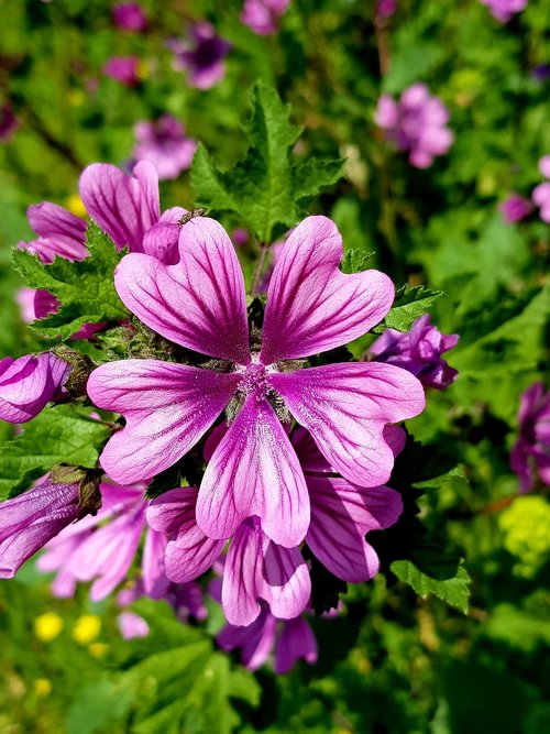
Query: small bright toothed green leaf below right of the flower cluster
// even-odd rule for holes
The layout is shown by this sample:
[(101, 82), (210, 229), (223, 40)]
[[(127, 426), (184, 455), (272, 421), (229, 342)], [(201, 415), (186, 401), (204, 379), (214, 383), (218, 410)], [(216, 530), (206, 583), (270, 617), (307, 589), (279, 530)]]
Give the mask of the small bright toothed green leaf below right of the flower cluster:
[(391, 570), (422, 599), (435, 594), (465, 614), (470, 596), (470, 576), (462, 561), (454, 563), (444, 557), (440, 560), (430, 557), (430, 572), (427, 573), (419, 568), (425, 566), (426, 558), (422, 558), (421, 551), (416, 556), (418, 565), (411, 560), (398, 560), (391, 565)]

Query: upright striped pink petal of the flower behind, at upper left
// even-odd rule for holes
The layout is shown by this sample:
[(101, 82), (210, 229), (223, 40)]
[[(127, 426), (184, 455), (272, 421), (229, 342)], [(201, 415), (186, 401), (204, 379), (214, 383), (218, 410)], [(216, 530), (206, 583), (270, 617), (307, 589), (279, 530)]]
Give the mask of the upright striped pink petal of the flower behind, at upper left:
[(80, 176), (80, 196), (90, 217), (121, 249), (143, 252), (143, 237), (161, 217), (158, 175), (141, 161), (133, 176), (108, 163), (94, 163)]

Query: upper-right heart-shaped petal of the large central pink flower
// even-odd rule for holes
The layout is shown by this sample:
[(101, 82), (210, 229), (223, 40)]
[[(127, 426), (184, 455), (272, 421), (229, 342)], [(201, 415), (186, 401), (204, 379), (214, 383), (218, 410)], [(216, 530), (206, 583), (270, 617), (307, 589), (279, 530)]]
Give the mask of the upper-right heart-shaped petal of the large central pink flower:
[(270, 281), (263, 364), (341, 347), (389, 310), (394, 286), (387, 275), (344, 275), (342, 255), (340, 232), (326, 217), (308, 217), (292, 232)]

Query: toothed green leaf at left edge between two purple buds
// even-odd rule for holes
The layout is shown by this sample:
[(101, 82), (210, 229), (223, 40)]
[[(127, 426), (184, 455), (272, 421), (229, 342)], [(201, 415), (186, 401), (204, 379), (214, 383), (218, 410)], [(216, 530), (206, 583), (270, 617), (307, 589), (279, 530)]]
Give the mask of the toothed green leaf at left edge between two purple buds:
[(0, 447), (0, 500), (23, 492), (57, 463), (94, 469), (110, 429), (84, 410), (57, 405)]

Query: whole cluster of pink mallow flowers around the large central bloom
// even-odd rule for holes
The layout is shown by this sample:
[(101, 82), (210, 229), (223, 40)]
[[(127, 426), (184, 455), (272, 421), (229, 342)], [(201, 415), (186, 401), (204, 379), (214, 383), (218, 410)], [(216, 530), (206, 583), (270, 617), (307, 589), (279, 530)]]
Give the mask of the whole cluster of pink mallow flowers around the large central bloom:
[[(178, 224), (180, 208), (161, 213), (152, 164), (139, 163), (132, 176), (94, 164), (82, 173), (80, 195), (114, 245), (130, 250), (114, 275), (121, 300), (198, 361), (127, 359), (91, 372), (94, 405), (125, 419), (100, 458), (102, 506), (86, 515), (82, 481), (59, 470), (3, 503), (0, 577), (12, 577), (48, 544), (40, 565), (57, 571), (54, 592), (68, 595), (78, 581), (91, 581), (92, 598), (103, 599), (128, 578), (144, 537), (141, 578), (119, 594), (121, 605), (140, 594), (162, 596), (182, 618), (200, 618), (196, 580), (213, 569), (229, 623), (222, 647), (242, 647), (250, 667), (273, 645), (279, 671), (296, 657), (312, 661), (315, 638), (301, 617), (311, 592), (302, 544), (344, 581), (377, 572), (365, 535), (395, 523), (402, 510), (385, 484), (405, 440), (394, 424), (421, 412), (422, 382), (452, 382), (441, 353), (457, 338), (424, 317), (410, 333), (386, 331), (371, 361), (311, 366), (308, 358), (375, 326), (394, 297), (377, 271), (341, 273), (341, 237), (329, 219), (309, 217), (280, 247), (258, 329), (249, 326), (228, 234), (208, 218)], [(84, 220), (50, 202), (31, 207), (29, 217), (37, 238), (20, 247), (45, 263), (87, 256)], [(33, 294), (35, 318), (56, 307), (47, 292)], [(106, 326), (87, 325), (75, 336)], [(67, 401), (70, 370), (52, 352), (4, 358), (0, 417), (25, 423), (48, 402)], [(189, 451), (206, 461), (200, 485), (145, 500), (150, 481)], [(121, 620), (124, 634), (146, 634), (131, 612)]]

